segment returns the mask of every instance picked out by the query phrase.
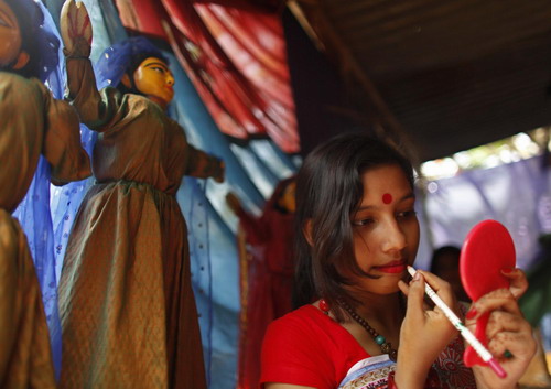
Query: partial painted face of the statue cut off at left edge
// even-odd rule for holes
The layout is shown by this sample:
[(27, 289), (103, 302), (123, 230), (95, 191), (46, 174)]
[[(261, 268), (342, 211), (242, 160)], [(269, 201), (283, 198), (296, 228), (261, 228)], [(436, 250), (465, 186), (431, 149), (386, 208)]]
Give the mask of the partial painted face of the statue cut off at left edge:
[(15, 14), (4, 0), (0, 0), (0, 67), (15, 62), (21, 52), (21, 31)]

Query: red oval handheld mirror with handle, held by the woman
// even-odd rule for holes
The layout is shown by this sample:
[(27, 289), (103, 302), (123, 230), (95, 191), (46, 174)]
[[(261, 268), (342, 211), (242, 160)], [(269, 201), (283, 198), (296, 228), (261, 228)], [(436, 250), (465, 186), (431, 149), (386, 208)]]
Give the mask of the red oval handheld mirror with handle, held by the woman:
[[(484, 220), (473, 227), (461, 249), (460, 273), (465, 292), (473, 301), (496, 289), (509, 288), (501, 269), (515, 268), (512, 238), (505, 226), (496, 220)], [(487, 346), (486, 325), (489, 314), (476, 321), (475, 336)], [(468, 346), (463, 356), (466, 366), (486, 365)]]

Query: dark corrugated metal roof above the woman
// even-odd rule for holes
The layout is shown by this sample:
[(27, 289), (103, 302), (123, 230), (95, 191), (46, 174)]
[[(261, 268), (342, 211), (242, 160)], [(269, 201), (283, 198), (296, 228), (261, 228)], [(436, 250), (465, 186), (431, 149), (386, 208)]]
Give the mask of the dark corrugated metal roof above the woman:
[(381, 99), (386, 127), (408, 133), (422, 160), (551, 123), (549, 0), (299, 6), (342, 68), (374, 86), (366, 98)]

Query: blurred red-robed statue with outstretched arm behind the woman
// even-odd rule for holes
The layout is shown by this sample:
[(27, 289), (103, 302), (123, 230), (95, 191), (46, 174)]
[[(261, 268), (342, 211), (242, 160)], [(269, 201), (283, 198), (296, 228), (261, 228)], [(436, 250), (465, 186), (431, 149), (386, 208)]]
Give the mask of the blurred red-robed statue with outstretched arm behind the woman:
[(258, 388), (258, 356), (266, 328), (292, 310), (294, 188), (294, 176), (279, 182), (258, 218), (241, 207), (235, 194), (226, 196), (228, 206), (239, 217), (246, 242), (242, 251), (247, 252), (241, 260), (247, 292), (241, 291), (245, 306), (239, 334), (240, 389)]

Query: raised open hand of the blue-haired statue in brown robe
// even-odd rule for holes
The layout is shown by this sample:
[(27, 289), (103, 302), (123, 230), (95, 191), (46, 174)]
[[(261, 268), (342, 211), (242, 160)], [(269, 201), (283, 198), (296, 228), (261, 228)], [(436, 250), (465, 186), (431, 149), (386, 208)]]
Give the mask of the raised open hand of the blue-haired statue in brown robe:
[(65, 1), (60, 26), (67, 54), (88, 57), (91, 50), (91, 23), (88, 11), (82, 1)]

